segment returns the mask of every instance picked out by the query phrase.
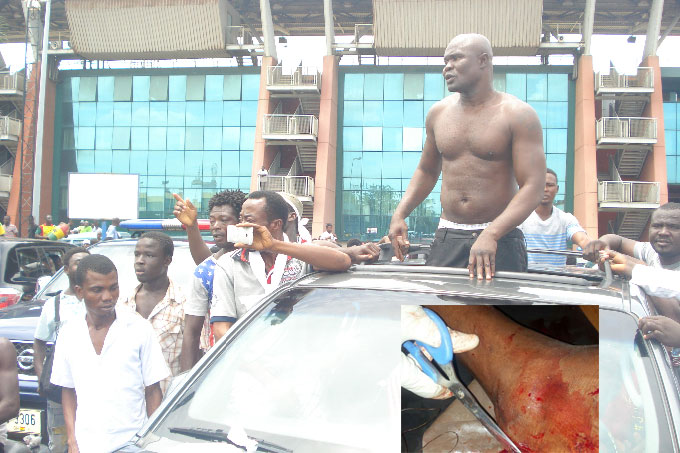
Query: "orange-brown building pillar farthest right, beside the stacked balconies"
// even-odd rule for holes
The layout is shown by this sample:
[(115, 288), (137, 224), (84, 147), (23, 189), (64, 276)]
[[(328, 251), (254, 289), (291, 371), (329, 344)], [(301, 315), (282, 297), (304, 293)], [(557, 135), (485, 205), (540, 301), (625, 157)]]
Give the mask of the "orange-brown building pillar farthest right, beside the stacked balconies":
[(642, 116), (656, 118), (656, 144), (647, 155), (645, 166), (640, 173), (640, 181), (657, 181), (660, 184), (659, 201), (661, 204), (668, 202), (668, 172), (666, 170), (666, 140), (663, 121), (663, 95), (661, 91), (661, 68), (659, 57), (650, 56), (645, 58), (642, 67), (650, 67), (654, 72), (654, 92), (649, 97)]

